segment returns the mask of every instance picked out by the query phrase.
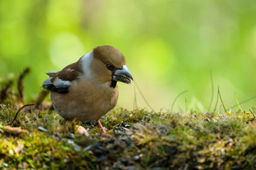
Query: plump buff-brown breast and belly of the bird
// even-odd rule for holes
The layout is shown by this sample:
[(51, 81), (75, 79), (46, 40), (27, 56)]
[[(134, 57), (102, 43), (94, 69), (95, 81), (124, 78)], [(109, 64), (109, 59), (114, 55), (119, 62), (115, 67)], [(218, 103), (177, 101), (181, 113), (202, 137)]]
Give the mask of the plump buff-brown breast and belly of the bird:
[(51, 92), (55, 111), (68, 120), (98, 120), (117, 104), (118, 86), (100, 86), (82, 77), (73, 81), (67, 94)]

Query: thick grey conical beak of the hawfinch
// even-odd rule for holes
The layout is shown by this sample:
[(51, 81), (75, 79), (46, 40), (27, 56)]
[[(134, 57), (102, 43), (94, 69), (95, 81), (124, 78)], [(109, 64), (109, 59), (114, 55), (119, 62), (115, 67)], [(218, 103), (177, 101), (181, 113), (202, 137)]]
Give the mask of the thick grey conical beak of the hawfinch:
[(123, 65), (122, 69), (117, 69), (114, 72), (112, 80), (114, 81), (122, 81), (123, 83), (130, 84), (132, 79), (132, 75), (129, 73), (129, 69), (126, 65)]

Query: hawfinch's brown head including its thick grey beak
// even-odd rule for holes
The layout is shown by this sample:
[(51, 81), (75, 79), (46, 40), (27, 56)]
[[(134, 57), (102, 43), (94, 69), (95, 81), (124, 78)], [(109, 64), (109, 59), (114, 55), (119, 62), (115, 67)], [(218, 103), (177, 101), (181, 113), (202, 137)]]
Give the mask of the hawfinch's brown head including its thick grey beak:
[(122, 52), (110, 45), (95, 47), (92, 52), (93, 58), (90, 67), (95, 79), (102, 83), (109, 83), (115, 87), (117, 81), (130, 84), (133, 80)]

